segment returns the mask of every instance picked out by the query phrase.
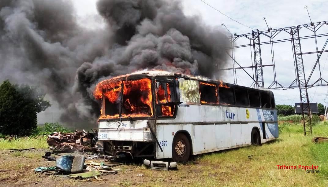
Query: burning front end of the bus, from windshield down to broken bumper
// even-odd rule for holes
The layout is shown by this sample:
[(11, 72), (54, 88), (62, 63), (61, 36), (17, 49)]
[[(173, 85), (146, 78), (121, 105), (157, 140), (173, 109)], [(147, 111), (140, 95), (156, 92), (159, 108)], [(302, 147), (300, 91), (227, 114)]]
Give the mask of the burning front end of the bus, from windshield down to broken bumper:
[(105, 154), (154, 156), (152, 80), (106, 80), (97, 85), (94, 96), (102, 101), (98, 139)]

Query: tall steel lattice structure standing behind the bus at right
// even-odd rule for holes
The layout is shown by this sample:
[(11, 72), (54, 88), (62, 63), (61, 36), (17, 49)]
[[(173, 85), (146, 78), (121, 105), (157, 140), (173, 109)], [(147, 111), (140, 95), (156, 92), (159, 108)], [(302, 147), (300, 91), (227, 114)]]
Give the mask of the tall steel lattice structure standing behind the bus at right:
[[(268, 27), (268, 30), (259, 31), (259, 30), (252, 30), (251, 33), (246, 34), (234, 34), (231, 35), (231, 38), (229, 39), (234, 43), (234, 45), (231, 45), (229, 49), (233, 50), (234, 55), (230, 55), (228, 52), (228, 56), (233, 61), (233, 67), (232, 68), (225, 68), (225, 69), (219, 69), (219, 70), (233, 70), (234, 71), (234, 78), (236, 69), (243, 70), (248, 77), (252, 79), (253, 84), (250, 87), (257, 87), (257, 88), (266, 88), (266, 89), (289, 89), (289, 88), (298, 88), (299, 94), (300, 94), (300, 103), (302, 108), (302, 116), (303, 116), (303, 130), (304, 135), (312, 134), (312, 125), (311, 125), (311, 110), (310, 110), (310, 102), (309, 102), (309, 95), (308, 95), (308, 89), (312, 88), (314, 86), (328, 86), (328, 82), (322, 78), (321, 75), (321, 67), (320, 67), (320, 57), (322, 53), (328, 52), (328, 50), (325, 50), (325, 47), (328, 44), (328, 33), (322, 33), (317, 34), (317, 31), (322, 28), (323, 26), (328, 26), (328, 21), (322, 21), (322, 22), (316, 22), (316, 23), (309, 23), (309, 24), (303, 24), (303, 25), (297, 25), (292, 27), (285, 27), (285, 28), (277, 28), (272, 29)], [(307, 29), (307, 31), (311, 31), (313, 34), (302, 36), (300, 35), (300, 30)], [(282, 33), (288, 33), (289, 37), (284, 38)], [(276, 39), (277, 36), (280, 36), (279, 39)], [(269, 39), (269, 41), (261, 42), (260, 38), (265, 37), (266, 39)], [(243, 44), (239, 44), (237, 42), (238, 39), (244, 38), (246, 41)], [(326, 41), (321, 50), (318, 49), (318, 42), (317, 39), (320, 38), (323, 41)], [(326, 38), (326, 40), (324, 40)], [(313, 39), (315, 44), (315, 51), (309, 51), (309, 52), (303, 52), (301, 48), (301, 41), (304, 39)], [(275, 55), (277, 53), (274, 53), (274, 44), (277, 43), (283, 43), (283, 42), (290, 42), (292, 45), (293, 50), (293, 59), (294, 59), (294, 67), (295, 67), (295, 78), (293, 76), (290, 76), (291, 84), (289, 85), (282, 85), (278, 83), (277, 81), (277, 72), (276, 67), (277, 66), (283, 66), (283, 64), (279, 64), (275, 62)], [(236, 45), (238, 44), (238, 45)], [(261, 47), (264, 45), (270, 45), (271, 50), (271, 62), (266, 63), (265, 65), (262, 63), (262, 55), (263, 55), (263, 48), (261, 50)], [(238, 53), (235, 54), (235, 49), (237, 48), (246, 48), (250, 47), (250, 55), (252, 60), (251, 66), (241, 66), (236, 61), (236, 56)], [(303, 56), (307, 54), (317, 54), (316, 61), (314, 63), (314, 66), (311, 69), (311, 73), (309, 77), (305, 76), (305, 68), (304, 68), (304, 62), (303, 62)], [(279, 54), (278, 54), (279, 55)], [(254, 63), (254, 65), (253, 65)], [(307, 62), (309, 63), (309, 62)], [(237, 65), (237, 66), (236, 66)], [(272, 66), (273, 73), (265, 75), (263, 74), (263, 68)], [(252, 69), (253, 75), (251, 75), (247, 69)], [(317, 72), (319, 76), (317, 81), (310, 81), (312, 78), (312, 75), (314, 72)], [(254, 76), (255, 74), (255, 76)], [(279, 72), (278, 72), (279, 75)], [(273, 82), (269, 84), (269, 86), (264, 86), (264, 76), (269, 77), (273, 76)], [(305, 120), (305, 116), (309, 116), (308, 120)]]

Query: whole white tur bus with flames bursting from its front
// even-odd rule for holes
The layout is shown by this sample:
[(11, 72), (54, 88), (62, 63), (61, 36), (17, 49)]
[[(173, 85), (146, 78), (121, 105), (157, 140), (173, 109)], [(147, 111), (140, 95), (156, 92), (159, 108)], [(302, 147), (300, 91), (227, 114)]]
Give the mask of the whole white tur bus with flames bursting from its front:
[(259, 145), (278, 138), (271, 91), (166, 71), (97, 84), (98, 138), (107, 154), (173, 158)]

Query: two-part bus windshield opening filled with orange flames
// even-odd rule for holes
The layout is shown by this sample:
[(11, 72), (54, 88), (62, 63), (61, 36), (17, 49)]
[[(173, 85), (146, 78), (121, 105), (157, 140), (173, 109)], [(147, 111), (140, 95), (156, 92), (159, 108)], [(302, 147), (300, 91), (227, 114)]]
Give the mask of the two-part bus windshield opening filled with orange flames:
[(102, 118), (153, 116), (151, 80), (111, 82), (102, 90)]

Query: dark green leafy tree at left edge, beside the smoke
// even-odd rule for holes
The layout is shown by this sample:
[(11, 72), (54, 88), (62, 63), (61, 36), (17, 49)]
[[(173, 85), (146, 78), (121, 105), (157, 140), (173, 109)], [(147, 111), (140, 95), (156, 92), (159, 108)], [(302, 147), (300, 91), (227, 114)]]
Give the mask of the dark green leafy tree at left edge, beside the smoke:
[(36, 113), (51, 106), (44, 96), (34, 87), (4, 81), (0, 85), (0, 133), (29, 135), (37, 125)]

